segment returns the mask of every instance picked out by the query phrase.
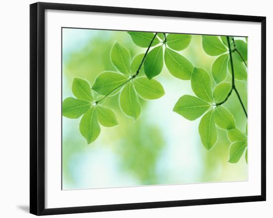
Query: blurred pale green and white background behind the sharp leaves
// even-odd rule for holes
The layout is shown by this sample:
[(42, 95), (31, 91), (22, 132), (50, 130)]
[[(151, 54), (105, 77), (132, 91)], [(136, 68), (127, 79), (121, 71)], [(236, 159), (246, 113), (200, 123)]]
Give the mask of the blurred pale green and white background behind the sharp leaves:
[[(132, 57), (146, 50), (137, 47), (126, 31), (62, 31), (63, 99), (72, 96), (74, 77), (87, 79), (92, 85), (99, 73), (115, 71), (110, 61), (115, 41), (127, 47)], [(190, 45), (179, 53), (208, 72), (215, 59), (203, 51), (200, 35), (193, 35)], [(166, 67), (155, 79), (163, 85), (165, 95), (157, 100), (140, 99), (142, 114), (136, 123), (120, 110), (118, 95), (108, 97), (104, 104), (116, 112), (120, 125), (101, 126), (100, 136), (90, 145), (79, 133), (80, 119), (63, 117), (63, 190), (247, 180), (244, 157), (235, 164), (227, 162), (230, 142), (226, 131), (217, 129), (218, 141), (207, 151), (198, 133), (201, 118), (189, 121), (172, 112), (179, 97), (194, 95), (190, 81), (173, 77)], [(226, 80), (230, 79), (228, 75)], [(247, 83), (236, 80), (236, 87), (247, 106)], [(225, 107), (245, 132), (247, 120), (234, 92)]]

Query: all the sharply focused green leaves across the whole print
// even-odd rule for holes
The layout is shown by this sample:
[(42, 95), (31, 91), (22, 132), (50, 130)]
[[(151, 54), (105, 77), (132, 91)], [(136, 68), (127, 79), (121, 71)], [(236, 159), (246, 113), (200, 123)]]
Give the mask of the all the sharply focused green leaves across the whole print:
[[(186, 57), (178, 53), (189, 46), (192, 38), (189, 34), (128, 34), (136, 46), (146, 48), (146, 52), (132, 59), (129, 50), (116, 42), (110, 52), (111, 63), (116, 71), (100, 73), (92, 86), (84, 79), (74, 78), (74, 97), (63, 101), (63, 116), (71, 119), (81, 117), (79, 130), (90, 144), (99, 136), (100, 125), (118, 125), (115, 112), (103, 106), (103, 102), (108, 96), (119, 94), (121, 110), (136, 122), (141, 115), (139, 97), (153, 100), (165, 94), (161, 83), (153, 78), (162, 72), (165, 64), (174, 77), (191, 80), (191, 87), (196, 95), (180, 97), (173, 111), (191, 121), (202, 117), (199, 134), (207, 150), (218, 140), (217, 128), (226, 130), (232, 143), (229, 162), (238, 162), (247, 147), (247, 136), (236, 127), (234, 116), (223, 104), (235, 87), (233, 81), (227, 81), (227, 73), (230, 72), (232, 77), (234, 75), (234, 79), (247, 80), (247, 44), (242, 40), (234, 40), (233, 37), (203, 35), (202, 47), (205, 53), (216, 57), (210, 72), (207, 72), (194, 67)], [(232, 47), (232, 66), (228, 45)], [(139, 77), (140, 72), (144, 72), (145, 76)]]

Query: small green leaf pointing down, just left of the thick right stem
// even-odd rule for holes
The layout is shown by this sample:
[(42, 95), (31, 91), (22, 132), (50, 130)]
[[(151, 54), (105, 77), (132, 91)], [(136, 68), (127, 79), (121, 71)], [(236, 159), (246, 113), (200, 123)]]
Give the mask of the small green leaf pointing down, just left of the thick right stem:
[(226, 78), (228, 58), (228, 54), (223, 54), (215, 59), (211, 66), (211, 73), (216, 83), (219, 83)]

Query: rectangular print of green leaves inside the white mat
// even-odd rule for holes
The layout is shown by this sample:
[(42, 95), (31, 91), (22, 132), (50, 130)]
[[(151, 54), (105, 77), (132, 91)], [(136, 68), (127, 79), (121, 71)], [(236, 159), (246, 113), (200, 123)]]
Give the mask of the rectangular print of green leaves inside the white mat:
[(247, 43), (63, 27), (62, 189), (248, 180)]

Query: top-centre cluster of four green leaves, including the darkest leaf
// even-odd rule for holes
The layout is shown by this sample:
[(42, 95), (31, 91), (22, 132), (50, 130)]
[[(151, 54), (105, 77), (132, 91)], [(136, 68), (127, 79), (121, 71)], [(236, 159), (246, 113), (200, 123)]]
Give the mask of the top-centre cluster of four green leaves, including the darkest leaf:
[[(133, 42), (142, 48), (147, 48), (154, 33), (128, 32)], [(158, 33), (144, 60), (144, 73), (151, 79), (162, 72), (164, 63), (168, 71), (176, 78), (189, 80), (193, 73), (193, 65), (177, 51), (187, 48), (192, 36), (189, 34)], [(135, 59), (140, 59), (138, 56)], [(135, 68), (136, 70), (136, 68)], [(137, 72), (136, 72), (137, 73)]]

